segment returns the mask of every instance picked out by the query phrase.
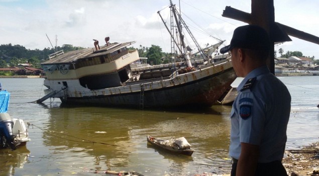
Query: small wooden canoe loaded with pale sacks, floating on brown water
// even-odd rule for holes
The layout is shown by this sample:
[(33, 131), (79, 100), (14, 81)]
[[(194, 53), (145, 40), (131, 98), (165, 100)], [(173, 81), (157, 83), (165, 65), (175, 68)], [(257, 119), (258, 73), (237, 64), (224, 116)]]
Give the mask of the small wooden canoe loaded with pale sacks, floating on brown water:
[(190, 144), (184, 137), (164, 140), (156, 139), (155, 137), (147, 135), (147, 141), (157, 148), (168, 150), (173, 153), (180, 153), (191, 156), (194, 152), (194, 150), (191, 149)]

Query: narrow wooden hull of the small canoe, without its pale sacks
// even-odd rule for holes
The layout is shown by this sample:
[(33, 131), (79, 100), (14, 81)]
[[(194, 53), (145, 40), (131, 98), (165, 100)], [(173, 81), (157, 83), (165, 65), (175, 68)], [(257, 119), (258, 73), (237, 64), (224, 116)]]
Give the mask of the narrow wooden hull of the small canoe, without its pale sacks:
[(165, 141), (165, 140), (156, 139), (155, 137), (147, 135), (147, 142), (151, 143), (152, 145), (154, 145), (157, 148), (161, 148), (161, 149), (173, 152), (173, 153), (180, 153), (180, 154), (184, 154), (184, 155), (188, 155), (188, 156), (191, 156), (194, 152), (194, 150), (191, 148), (179, 149), (177, 146), (163, 145), (162, 144), (163, 141)]

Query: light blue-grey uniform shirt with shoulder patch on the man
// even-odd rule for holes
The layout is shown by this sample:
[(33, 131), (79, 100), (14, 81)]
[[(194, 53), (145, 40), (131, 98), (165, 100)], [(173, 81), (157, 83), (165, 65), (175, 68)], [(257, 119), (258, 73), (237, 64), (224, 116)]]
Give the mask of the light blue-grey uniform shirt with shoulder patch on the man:
[(241, 142), (259, 145), (258, 162), (282, 160), (291, 97), (267, 66), (251, 71), (237, 87), (231, 111), (230, 156), (239, 159)]

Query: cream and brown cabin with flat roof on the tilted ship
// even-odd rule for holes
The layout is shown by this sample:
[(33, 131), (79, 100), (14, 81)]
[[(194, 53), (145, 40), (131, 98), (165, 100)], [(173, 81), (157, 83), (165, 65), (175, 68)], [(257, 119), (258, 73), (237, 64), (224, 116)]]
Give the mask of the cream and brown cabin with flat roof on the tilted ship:
[(137, 50), (127, 48), (133, 43), (69, 51), (51, 56), (41, 65), (48, 81), (66, 87), (71, 80), (79, 80), (81, 86), (90, 90), (121, 86), (132, 77), (130, 63), (140, 59)]

